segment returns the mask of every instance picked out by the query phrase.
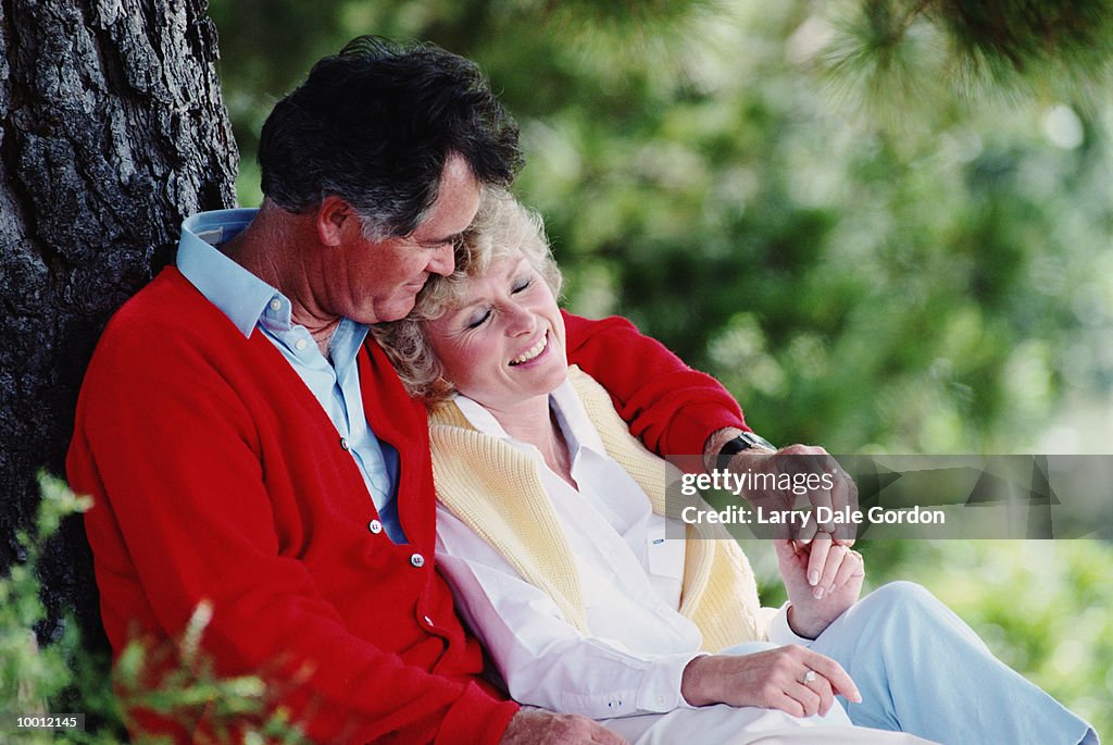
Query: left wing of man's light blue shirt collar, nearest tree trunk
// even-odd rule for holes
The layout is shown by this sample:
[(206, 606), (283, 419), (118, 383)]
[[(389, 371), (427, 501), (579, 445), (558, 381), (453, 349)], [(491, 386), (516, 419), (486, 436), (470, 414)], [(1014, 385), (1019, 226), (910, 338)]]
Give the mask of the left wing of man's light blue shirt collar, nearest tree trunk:
[(290, 325), (289, 300), (218, 248), (247, 227), (257, 213), (258, 209), (216, 209), (187, 217), (178, 241), (178, 271), (244, 336), (250, 336), (260, 320), (278, 327)]

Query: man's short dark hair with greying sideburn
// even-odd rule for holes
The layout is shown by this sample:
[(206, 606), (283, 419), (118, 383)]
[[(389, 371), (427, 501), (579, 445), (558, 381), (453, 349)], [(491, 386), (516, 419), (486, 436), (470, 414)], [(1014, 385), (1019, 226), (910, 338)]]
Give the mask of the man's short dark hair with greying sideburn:
[(475, 66), (430, 43), (353, 39), (325, 57), (263, 125), (263, 193), (295, 213), (327, 195), (374, 237), (407, 235), (436, 200), (456, 153), (481, 184), (509, 186), (518, 125)]

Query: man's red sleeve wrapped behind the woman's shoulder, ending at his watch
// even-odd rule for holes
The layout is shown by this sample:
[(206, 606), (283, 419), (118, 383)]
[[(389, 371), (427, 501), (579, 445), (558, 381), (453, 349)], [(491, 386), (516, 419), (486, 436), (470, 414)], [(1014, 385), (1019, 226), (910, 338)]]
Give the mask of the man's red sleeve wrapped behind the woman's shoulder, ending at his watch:
[[(626, 318), (564, 313), (569, 362), (611, 394), (630, 432), (661, 455), (698, 455), (720, 431), (749, 431), (738, 402)], [(727, 438), (729, 439), (729, 438)]]

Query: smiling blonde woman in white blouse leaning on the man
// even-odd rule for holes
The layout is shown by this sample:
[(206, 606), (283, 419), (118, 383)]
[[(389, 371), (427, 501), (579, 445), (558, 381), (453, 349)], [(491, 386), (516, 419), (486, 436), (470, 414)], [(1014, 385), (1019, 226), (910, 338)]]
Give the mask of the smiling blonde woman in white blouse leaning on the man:
[(808, 548), (775, 541), (770, 618), (736, 543), (664, 540), (667, 464), (569, 369), (559, 286), (540, 220), (489, 194), (456, 272), (376, 330), (431, 404), (437, 560), (515, 699), (639, 743), (894, 737), (848, 728), (836, 695), (856, 725), (936, 742), (1097, 742), (923, 589), (858, 601), (851, 550), (819, 594)]

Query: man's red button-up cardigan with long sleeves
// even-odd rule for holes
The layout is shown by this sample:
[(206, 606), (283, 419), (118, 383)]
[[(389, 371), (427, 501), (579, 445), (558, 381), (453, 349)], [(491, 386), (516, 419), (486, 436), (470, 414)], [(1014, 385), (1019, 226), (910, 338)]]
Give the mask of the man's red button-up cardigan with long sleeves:
[[(700, 452), (710, 432), (742, 425), (713, 380), (628, 322), (565, 321), (571, 361), (649, 447)], [(105, 628), (117, 651), (136, 636), (167, 644), (208, 600), (218, 672), (280, 682), (278, 703), (314, 741), (496, 743), (518, 705), (477, 677), (480, 646), (434, 570), (425, 410), (373, 342), (358, 364), (368, 421), (401, 457), (410, 545), (368, 528), (377, 514), (355, 463), (263, 334), (245, 337), (173, 267), (114, 316), (67, 463), (95, 499)]]

